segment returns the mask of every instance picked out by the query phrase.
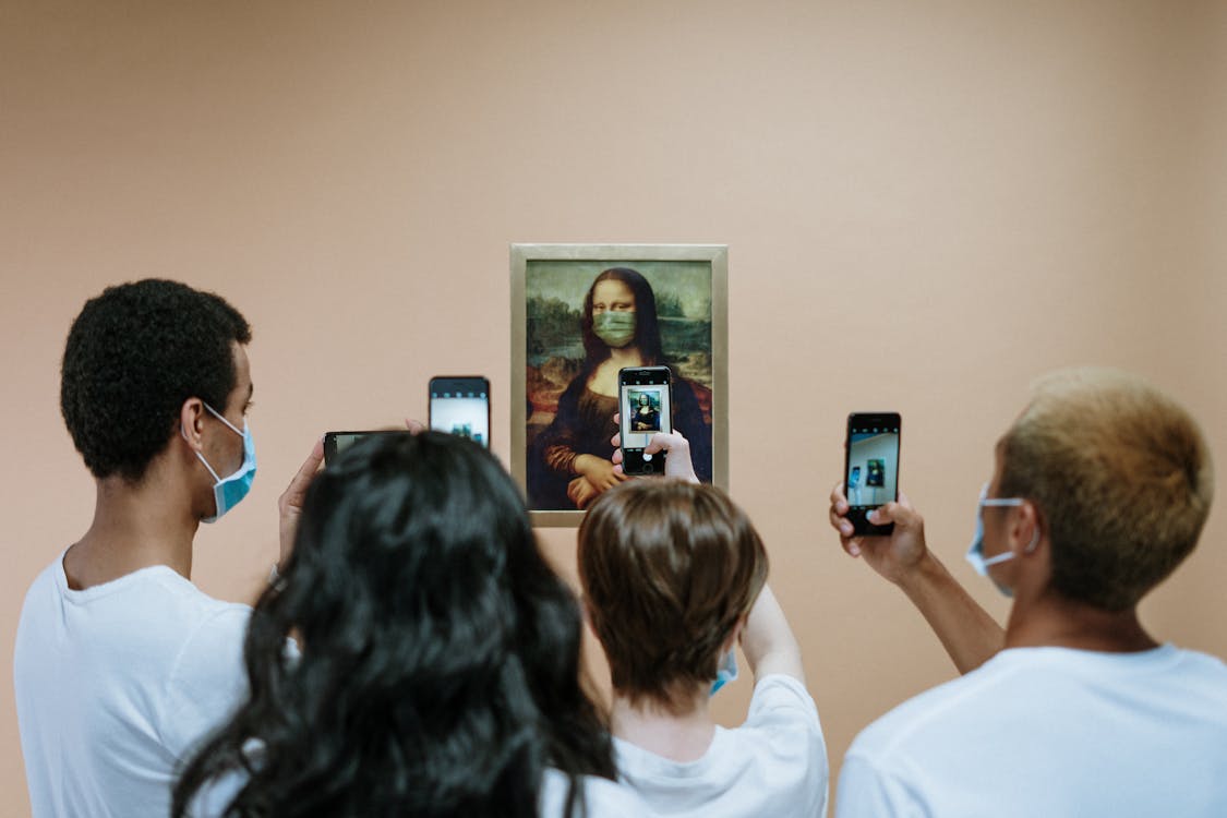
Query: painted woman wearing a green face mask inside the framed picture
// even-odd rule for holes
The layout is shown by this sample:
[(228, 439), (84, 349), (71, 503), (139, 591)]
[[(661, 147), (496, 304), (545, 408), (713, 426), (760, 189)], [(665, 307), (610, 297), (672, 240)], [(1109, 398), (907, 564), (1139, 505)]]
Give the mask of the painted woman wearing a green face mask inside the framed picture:
[[(617, 373), (623, 367), (667, 364), (660, 342), (656, 297), (638, 270), (610, 267), (593, 280), (580, 318), (584, 363), (558, 397), (553, 422), (541, 432), (529, 462), (535, 509), (587, 509), (625, 480), (614, 470), (610, 438), (617, 432)], [(712, 428), (696, 385), (674, 373), (672, 427), (691, 444), (698, 478), (712, 482)], [(698, 388), (702, 389), (702, 388)]]

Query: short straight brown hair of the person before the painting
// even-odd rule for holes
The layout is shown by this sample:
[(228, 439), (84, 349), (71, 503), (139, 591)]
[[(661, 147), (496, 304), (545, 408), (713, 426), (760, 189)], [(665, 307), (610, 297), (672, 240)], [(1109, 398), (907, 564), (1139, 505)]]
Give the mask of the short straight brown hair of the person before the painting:
[(767, 581), (767, 551), (720, 489), (628, 481), (584, 518), (579, 579), (615, 690), (672, 706), (715, 678), (720, 648)]

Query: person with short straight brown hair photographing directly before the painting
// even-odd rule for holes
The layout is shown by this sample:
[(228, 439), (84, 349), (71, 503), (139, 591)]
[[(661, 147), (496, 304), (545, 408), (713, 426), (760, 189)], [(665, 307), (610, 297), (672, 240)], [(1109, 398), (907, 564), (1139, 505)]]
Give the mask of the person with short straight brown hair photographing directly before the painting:
[[(688, 467), (681, 435), (654, 435), (647, 451), (661, 449), (674, 473)], [(580, 525), (579, 578), (609, 657), (618, 773), (661, 816), (826, 811), (822, 727), (767, 568), (746, 514), (693, 480), (621, 483)], [(755, 693), (746, 722), (725, 730), (709, 699), (735, 676), (739, 643)]]

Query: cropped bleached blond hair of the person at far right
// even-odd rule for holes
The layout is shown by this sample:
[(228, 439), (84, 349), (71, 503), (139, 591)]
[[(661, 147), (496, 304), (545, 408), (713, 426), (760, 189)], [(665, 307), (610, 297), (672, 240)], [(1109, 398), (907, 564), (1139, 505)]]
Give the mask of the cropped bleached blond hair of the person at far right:
[(1210, 513), (1201, 429), (1124, 372), (1043, 379), (1000, 453), (1000, 494), (1032, 499), (1047, 520), (1053, 589), (1097, 608), (1135, 606), (1193, 551)]

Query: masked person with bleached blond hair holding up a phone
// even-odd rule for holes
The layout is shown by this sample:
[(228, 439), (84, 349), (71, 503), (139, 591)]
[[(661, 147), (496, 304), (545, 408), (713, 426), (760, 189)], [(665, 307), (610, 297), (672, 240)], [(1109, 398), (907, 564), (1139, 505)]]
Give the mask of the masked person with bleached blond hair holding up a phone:
[(1227, 816), (1227, 667), (1161, 644), (1140, 600), (1193, 551), (1210, 511), (1193, 418), (1140, 379), (1042, 381), (996, 446), (968, 559), (1014, 605), (1005, 630), (925, 545), (903, 498), (844, 548), (912, 598), (963, 677), (867, 727), (837, 816)]

